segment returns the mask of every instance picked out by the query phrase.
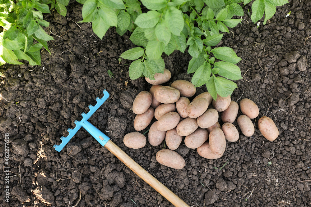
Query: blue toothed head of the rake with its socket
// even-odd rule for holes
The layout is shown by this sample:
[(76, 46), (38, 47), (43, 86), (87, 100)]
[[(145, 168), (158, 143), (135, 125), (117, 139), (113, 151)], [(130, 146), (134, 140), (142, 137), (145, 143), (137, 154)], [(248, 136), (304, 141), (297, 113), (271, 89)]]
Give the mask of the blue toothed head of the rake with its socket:
[(60, 152), (81, 127), (84, 127), (89, 133), (91, 133), (91, 135), (98, 142), (100, 142), (100, 144), (102, 144), (103, 146), (109, 140), (109, 137), (104, 135), (102, 132), (100, 132), (97, 128), (95, 128), (93, 125), (91, 125), (87, 121), (87, 119), (89, 119), (91, 117), (91, 115), (94, 114), (94, 112), (107, 100), (107, 98), (109, 98), (109, 93), (106, 90), (104, 90), (103, 93), (104, 93), (104, 97), (102, 97), (102, 98), (97, 97), (96, 98), (97, 103), (95, 104), (95, 106), (92, 106), (92, 105), (89, 106), (90, 111), (87, 114), (84, 112), (81, 114), (83, 117), (81, 119), (81, 121), (75, 120), (76, 127), (73, 129), (71, 129), (71, 128), (67, 129), (69, 134), (67, 137), (61, 137), (60, 138), (62, 140), (62, 143), (60, 145), (54, 145), (53, 146), (56, 151)]

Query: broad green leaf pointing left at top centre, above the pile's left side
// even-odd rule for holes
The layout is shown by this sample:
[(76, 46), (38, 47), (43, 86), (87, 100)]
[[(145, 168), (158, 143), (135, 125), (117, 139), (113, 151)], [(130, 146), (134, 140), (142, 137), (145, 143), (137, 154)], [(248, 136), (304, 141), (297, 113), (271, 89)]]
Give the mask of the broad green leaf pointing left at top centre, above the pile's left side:
[(159, 22), (160, 16), (160, 13), (157, 11), (148, 11), (137, 16), (135, 24), (141, 28), (154, 27)]

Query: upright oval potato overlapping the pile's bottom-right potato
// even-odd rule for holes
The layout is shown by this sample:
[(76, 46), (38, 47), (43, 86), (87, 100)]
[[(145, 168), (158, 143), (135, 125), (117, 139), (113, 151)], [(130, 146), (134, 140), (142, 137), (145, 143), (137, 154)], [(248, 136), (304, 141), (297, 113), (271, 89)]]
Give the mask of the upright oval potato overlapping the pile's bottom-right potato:
[(208, 137), (211, 151), (215, 155), (222, 155), (226, 149), (226, 138), (221, 128), (215, 127), (211, 130)]

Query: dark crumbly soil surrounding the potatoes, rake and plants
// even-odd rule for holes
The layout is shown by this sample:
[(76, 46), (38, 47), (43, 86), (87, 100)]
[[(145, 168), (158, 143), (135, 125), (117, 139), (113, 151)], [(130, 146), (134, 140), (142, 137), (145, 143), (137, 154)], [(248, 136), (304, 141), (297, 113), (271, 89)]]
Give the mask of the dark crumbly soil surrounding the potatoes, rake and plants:
[[(53, 149), (107, 89), (109, 99), (89, 121), (189, 206), (310, 206), (310, 6), (308, 0), (290, 1), (258, 29), (245, 14), (248, 23), (243, 21), (219, 44), (232, 47), (243, 59), (238, 65), (244, 79), (237, 81), (232, 100), (250, 98), (257, 103), (259, 116), (275, 121), (279, 138), (267, 141), (255, 124), (252, 137), (240, 133), (239, 141), (227, 142), (225, 154), (217, 160), (204, 159), (181, 145), (176, 151), (186, 161), (182, 170), (156, 162), (164, 143), (147, 143), (137, 150), (123, 144), (123, 136), (134, 132), (132, 101), (151, 87), (143, 78), (130, 80), (130, 61), (118, 61), (122, 52), (134, 47), (129, 33), (120, 37), (109, 29), (100, 40), (89, 23), (75, 23), (82, 19), (82, 6), (75, 2), (69, 4), (67, 18), (56, 11), (45, 16), (50, 22), (47, 32), (55, 39), (49, 42), (51, 55), (42, 50), (41, 67), (2, 70), (0, 168), (7, 166), (2, 158), (4, 133), (9, 133), (11, 194), (10, 203), (5, 202), (5, 173), (0, 173), (1, 205), (172, 206), (83, 128), (61, 152)], [(186, 74), (187, 53), (163, 57), (172, 73), (168, 84), (191, 80)]]

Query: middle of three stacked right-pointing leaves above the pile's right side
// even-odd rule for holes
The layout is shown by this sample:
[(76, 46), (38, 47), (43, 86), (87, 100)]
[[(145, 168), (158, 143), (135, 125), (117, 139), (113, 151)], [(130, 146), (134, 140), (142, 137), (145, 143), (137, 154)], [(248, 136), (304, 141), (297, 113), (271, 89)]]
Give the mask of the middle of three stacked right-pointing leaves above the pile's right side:
[(219, 61), (215, 62), (214, 65), (214, 68), (220, 69), (218, 74), (227, 79), (239, 80), (242, 78), (240, 68), (230, 62)]

